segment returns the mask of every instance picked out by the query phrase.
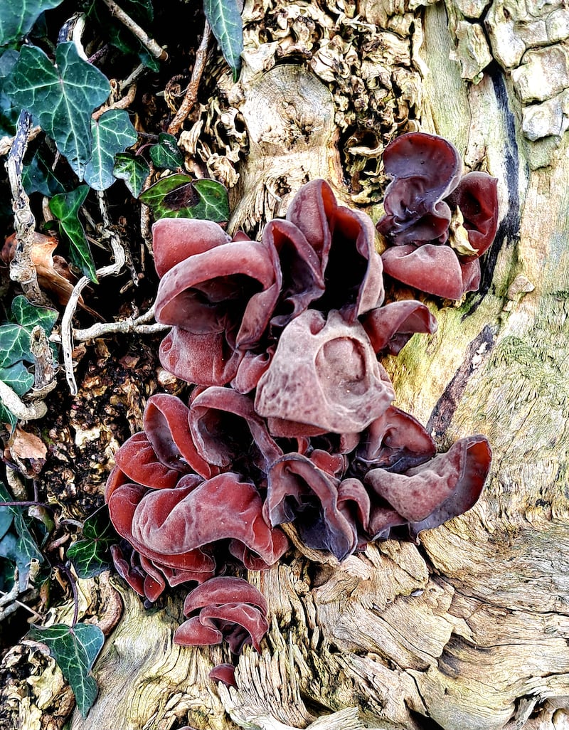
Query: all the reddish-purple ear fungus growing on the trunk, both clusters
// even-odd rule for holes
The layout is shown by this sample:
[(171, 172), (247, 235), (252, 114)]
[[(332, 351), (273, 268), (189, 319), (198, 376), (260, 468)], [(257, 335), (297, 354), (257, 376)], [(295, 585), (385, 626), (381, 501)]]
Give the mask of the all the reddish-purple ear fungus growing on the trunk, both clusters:
[[(454, 147), (429, 134), (396, 139), (384, 162), (382, 256), (371, 220), (324, 180), (304, 185), (260, 242), (204, 220), (155, 223), (156, 317), (171, 325), (160, 360), (193, 388), (186, 402), (148, 399), (106, 499), (122, 538), (115, 566), (133, 590), (155, 602), (189, 584), (179, 644), (260, 650), (266, 599), (230, 572), (276, 563), (289, 548), (283, 523), (343, 560), (373, 540), (416, 538), (484, 487), (487, 439), (436, 454), (393, 405), (378, 358), (436, 331), (422, 302), (384, 303), (383, 272), (448, 299), (476, 289), (496, 181), (462, 177)], [(235, 683), (233, 664), (210, 676)]]

